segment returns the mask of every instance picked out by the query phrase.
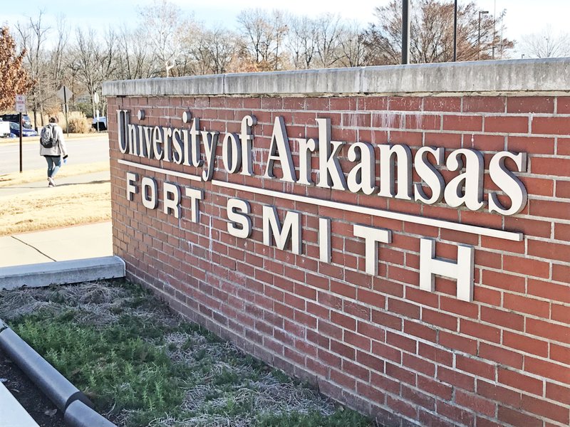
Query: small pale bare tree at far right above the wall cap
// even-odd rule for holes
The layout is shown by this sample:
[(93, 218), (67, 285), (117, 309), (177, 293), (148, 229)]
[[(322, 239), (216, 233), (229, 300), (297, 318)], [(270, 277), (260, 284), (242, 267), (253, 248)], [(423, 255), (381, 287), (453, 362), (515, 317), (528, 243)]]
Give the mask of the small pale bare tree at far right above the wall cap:
[(570, 35), (554, 33), (550, 25), (539, 33), (522, 36), (520, 51), (529, 58), (570, 56)]

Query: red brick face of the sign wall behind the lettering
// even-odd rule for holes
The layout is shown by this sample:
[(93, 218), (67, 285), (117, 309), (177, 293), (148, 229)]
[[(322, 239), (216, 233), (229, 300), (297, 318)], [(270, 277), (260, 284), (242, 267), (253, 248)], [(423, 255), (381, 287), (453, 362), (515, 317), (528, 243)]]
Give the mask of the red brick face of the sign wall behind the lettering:
[[(214, 179), (291, 191), (264, 180), (274, 118), (289, 138), (317, 137), (329, 117), (336, 140), (527, 152), (517, 173), (529, 194), (514, 216), (295, 186), (294, 192), (476, 226), (519, 231), (520, 242), (372, 218), (269, 196), (237, 194), (211, 182), (135, 170), (118, 159), (200, 174), (192, 167), (121, 154), (110, 114), (113, 245), (128, 278), (153, 288), (173, 309), (231, 339), (266, 362), (318, 384), (338, 401), (387, 425), (568, 426), (570, 423), (570, 97), (110, 97), (109, 111), (145, 110), (145, 125), (239, 132), (257, 117), (254, 174), (227, 174), (217, 151)], [(114, 117), (114, 119), (113, 119)], [(220, 139), (221, 142), (221, 139)], [(346, 148), (343, 156), (346, 156)], [(291, 141), (294, 154), (298, 147)], [(313, 166), (316, 167), (315, 162)], [(378, 168), (378, 162), (377, 162)], [(343, 162), (343, 167), (346, 163)], [(445, 169), (445, 168), (443, 168)], [(345, 169), (347, 172), (348, 169)], [(126, 172), (204, 189), (199, 224), (182, 198), (180, 220), (125, 197)], [(446, 181), (452, 174), (444, 174)], [(417, 180), (418, 177), (416, 176)], [(496, 189), (485, 174), (485, 189)], [(248, 199), (254, 231), (227, 233), (228, 198)], [(485, 193), (487, 200), (487, 192)], [(303, 253), (264, 246), (261, 209), (303, 212)], [(332, 219), (332, 263), (318, 258), (318, 218)], [(365, 273), (353, 224), (392, 230), (380, 245), (378, 275)], [(455, 280), (419, 288), (420, 238), (455, 260), (457, 244), (475, 247), (473, 302), (455, 297)]]

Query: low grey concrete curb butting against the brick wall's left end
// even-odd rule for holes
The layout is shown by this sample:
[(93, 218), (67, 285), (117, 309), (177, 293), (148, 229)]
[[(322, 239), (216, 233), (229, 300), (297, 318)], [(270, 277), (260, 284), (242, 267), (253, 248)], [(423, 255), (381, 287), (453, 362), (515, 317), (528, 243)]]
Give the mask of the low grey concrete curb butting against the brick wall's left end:
[(125, 261), (118, 256), (83, 260), (16, 265), (0, 268), (0, 289), (12, 290), (27, 286), (39, 288), (53, 284), (89, 282), (125, 277)]

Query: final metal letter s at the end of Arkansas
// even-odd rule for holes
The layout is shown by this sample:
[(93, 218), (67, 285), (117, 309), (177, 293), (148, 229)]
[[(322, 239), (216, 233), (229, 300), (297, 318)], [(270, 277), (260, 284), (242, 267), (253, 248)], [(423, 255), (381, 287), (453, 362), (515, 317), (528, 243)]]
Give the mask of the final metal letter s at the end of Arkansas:
[(510, 152), (499, 152), (492, 157), (489, 164), (489, 175), (499, 189), (502, 189), (504, 194), (509, 196), (511, 207), (509, 209), (505, 208), (499, 201), (497, 193), (493, 192), (489, 194), (489, 212), (514, 215), (524, 209), (528, 195), (524, 184), (504, 165), (504, 159), (507, 157), (512, 159), (514, 164), (517, 165), (518, 172), (527, 172), (527, 153), (512, 154)]

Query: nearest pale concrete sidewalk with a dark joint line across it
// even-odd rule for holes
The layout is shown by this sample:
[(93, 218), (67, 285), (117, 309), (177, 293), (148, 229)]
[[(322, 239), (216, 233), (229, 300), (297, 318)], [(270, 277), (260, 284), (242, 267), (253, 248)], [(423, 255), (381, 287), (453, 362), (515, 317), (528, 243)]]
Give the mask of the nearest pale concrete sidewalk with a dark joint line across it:
[(56, 228), (0, 237), (0, 267), (113, 255), (111, 223)]

